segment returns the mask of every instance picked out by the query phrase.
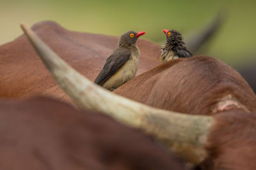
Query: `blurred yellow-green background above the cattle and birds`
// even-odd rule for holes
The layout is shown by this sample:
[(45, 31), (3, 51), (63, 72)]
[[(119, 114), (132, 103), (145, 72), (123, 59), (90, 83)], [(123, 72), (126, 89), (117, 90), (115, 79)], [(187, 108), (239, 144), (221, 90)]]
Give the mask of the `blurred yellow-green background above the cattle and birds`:
[(31, 26), (42, 20), (54, 20), (72, 31), (114, 36), (128, 30), (147, 31), (143, 38), (163, 45), (163, 29), (177, 29), (188, 38), (221, 9), (227, 20), (207, 51), (199, 53), (234, 67), (256, 57), (256, 1), (1, 0), (0, 6), (0, 45), (22, 34), (21, 22)]

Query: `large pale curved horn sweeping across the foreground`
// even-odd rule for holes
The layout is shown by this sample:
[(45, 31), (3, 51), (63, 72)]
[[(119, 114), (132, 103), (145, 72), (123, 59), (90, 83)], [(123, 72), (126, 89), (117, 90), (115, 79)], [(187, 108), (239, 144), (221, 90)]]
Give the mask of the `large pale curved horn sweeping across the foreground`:
[(190, 162), (199, 163), (205, 159), (204, 145), (212, 117), (160, 110), (113, 94), (68, 66), (26, 25), (21, 24), (21, 27), (52, 76), (79, 108), (98, 111), (125, 125), (142, 129)]

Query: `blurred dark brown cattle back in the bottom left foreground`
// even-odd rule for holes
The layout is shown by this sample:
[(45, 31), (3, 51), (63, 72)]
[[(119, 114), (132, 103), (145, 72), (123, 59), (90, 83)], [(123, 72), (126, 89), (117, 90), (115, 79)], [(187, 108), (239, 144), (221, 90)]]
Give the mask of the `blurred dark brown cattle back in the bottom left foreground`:
[(0, 125), (0, 169), (184, 169), (140, 131), (54, 99), (2, 99)]

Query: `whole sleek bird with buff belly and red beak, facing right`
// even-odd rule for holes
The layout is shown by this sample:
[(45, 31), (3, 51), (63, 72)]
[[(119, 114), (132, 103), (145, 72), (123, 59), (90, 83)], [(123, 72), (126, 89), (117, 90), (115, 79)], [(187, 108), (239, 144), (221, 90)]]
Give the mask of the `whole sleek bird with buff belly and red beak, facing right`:
[(94, 82), (112, 91), (131, 80), (139, 65), (140, 50), (136, 41), (145, 33), (127, 31), (122, 34), (118, 47), (108, 57)]

